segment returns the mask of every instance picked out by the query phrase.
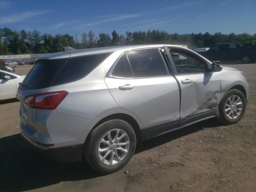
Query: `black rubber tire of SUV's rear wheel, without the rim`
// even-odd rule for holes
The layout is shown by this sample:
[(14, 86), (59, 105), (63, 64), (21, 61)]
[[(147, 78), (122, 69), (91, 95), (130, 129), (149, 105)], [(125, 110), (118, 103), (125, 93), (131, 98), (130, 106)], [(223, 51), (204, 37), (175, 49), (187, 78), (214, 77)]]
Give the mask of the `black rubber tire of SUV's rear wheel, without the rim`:
[[(126, 132), (130, 140), (130, 146), (124, 159), (122, 159), (117, 164), (107, 165), (104, 164), (98, 156), (98, 146), (102, 137), (108, 131), (113, 129), (121, 129)], [(92, 132), (90, 132), (90, 134), (88, 135), (88, 138), (86, 139), (84, 145), (85, 146), (83, 155), (84, 159), (88, 162), (88, 164), (90, 164), (90, 166), (92, 166), (92, 168), (97, 172), (110, 174), (122, 169), (124, 166), (126, 166), (126, 164), (128, 164), (128, 162), (132, 158), (136, 148), (136, 134), (132, 126), (128, 122), (119, 119), (109, 120), (100, 124), (94, 130), (92, 130)]]

